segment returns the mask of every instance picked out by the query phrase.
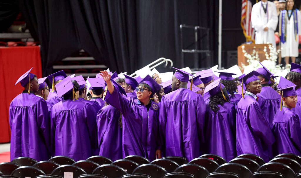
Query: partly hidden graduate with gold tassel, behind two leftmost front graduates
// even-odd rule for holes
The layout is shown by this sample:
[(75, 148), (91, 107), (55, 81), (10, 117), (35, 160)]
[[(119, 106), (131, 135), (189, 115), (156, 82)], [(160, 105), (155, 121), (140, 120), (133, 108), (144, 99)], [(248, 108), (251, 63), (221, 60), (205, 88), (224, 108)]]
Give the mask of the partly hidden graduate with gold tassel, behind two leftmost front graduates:
[(58, 83), (60, 83), (63, 79), (65, 79), (67, 76), (64, 72), (64, 70), (61, 70), (61, 71), (58, 71), (56, 73), (53, 73), (49, 76), (47, 76), (49, 81), (52, 83), (52, 88), (51, 88), (51, 91), (48, 95), (48, 101), (49, 103), (51, 103), (52, 105), (60, 102), (63, 100), (62, 97), (58, 97), (57, 96), (57, 91), (56, 91), (56, 88), (55, 88), (55, 85), (57, 85)]

